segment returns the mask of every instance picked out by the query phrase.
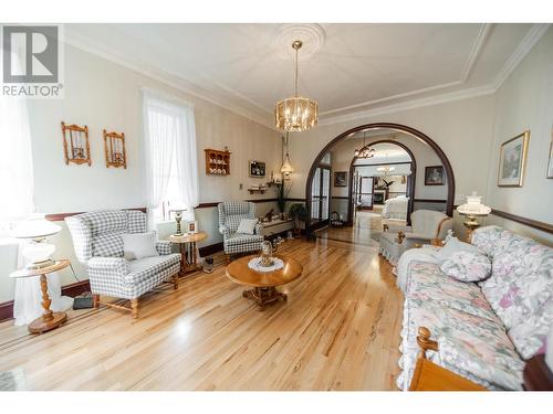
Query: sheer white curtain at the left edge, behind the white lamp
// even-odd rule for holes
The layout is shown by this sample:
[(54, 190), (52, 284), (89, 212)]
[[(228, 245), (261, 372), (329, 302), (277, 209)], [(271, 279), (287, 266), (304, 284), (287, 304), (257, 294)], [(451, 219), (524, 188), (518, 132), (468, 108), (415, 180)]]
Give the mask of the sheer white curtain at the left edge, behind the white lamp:
[[(2, 51), (3, 52), (3, 51)], [(17, 53), (12, 62), (19, 64)], [(0, 248), (2, 257), (12, 262), (2, 268), (23, 266), (22, 252), (27, 242), (10, 238), (12, 227), (34, 212), (34, 171), (31, 129), (27, 99), (0, 96)], [(13, 246), (18, 245), (17, 254)], [(2, 275), (7, 277), (7, 275)], [(9, 285), (3, 285), (9, 286)], [(61, 296), (58, 274), (48, 276), (48, 290), (52, 299), (51, 309), (64, 310), (73, 300)], [(15, 280), (13, 317), (15, 325), (27, 325), (42, 315), (41, 289), (38, 277)]]

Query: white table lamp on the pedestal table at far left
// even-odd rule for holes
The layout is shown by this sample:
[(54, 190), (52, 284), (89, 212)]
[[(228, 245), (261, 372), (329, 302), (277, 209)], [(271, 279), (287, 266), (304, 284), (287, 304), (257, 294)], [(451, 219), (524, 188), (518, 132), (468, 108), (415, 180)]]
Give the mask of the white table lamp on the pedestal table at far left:
[(50, 257), (55, 252), (55, 246), (46, 243), (46, 237), (60, 233), (62, 227), (43, 216), (31, 216), (15, 227), (14, 237), (32, 240), (23, 251), (27, 269), (40, 269), (54, 264)]

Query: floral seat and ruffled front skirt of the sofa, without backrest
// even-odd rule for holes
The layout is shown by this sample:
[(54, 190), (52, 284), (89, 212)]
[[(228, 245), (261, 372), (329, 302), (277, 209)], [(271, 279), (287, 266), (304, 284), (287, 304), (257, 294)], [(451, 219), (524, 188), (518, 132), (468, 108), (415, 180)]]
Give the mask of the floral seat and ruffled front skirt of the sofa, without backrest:
[(455, 280), (432, 263), (413, 262), (409, 273), (398, 386), (409, 388), (417, 330), (427, 327), (439, 342), (439, 352), (427, 352), (431, 361), (489, 389), (520, 389), (523, 362), (478, 285)]

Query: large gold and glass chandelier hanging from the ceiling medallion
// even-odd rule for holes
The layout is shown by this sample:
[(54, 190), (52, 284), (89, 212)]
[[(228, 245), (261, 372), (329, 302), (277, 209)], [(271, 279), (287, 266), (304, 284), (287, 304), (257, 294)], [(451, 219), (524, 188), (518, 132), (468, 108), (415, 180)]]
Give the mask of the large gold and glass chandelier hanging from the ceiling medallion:
[(316, 127), (319, 121), (319, 104), (316, 100), (298, 95), (298, 51), (303, 42), (296, 40), (292, 43), (295, 51), (295, 94), (276, 103), (274, 108), (274, 125), (288, 132), (299, 132)]

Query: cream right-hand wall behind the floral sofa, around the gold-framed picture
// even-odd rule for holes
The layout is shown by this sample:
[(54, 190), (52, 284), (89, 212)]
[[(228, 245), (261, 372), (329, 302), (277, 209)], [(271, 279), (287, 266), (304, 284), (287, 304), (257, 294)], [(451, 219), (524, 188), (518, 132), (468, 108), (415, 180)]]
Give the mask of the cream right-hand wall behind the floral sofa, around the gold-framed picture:
[[(530, 130), (523, 185), (498, 187), (501, 142)], [(487, 202), (497, 210), (553, 224), (553, 179), (546, 179), (553, 135), (553, 29), (550, 29), (503, 83), (495, 96), (495, 117)], [(553, 235), (507, 220), (498, 224), (553, 244)]]

